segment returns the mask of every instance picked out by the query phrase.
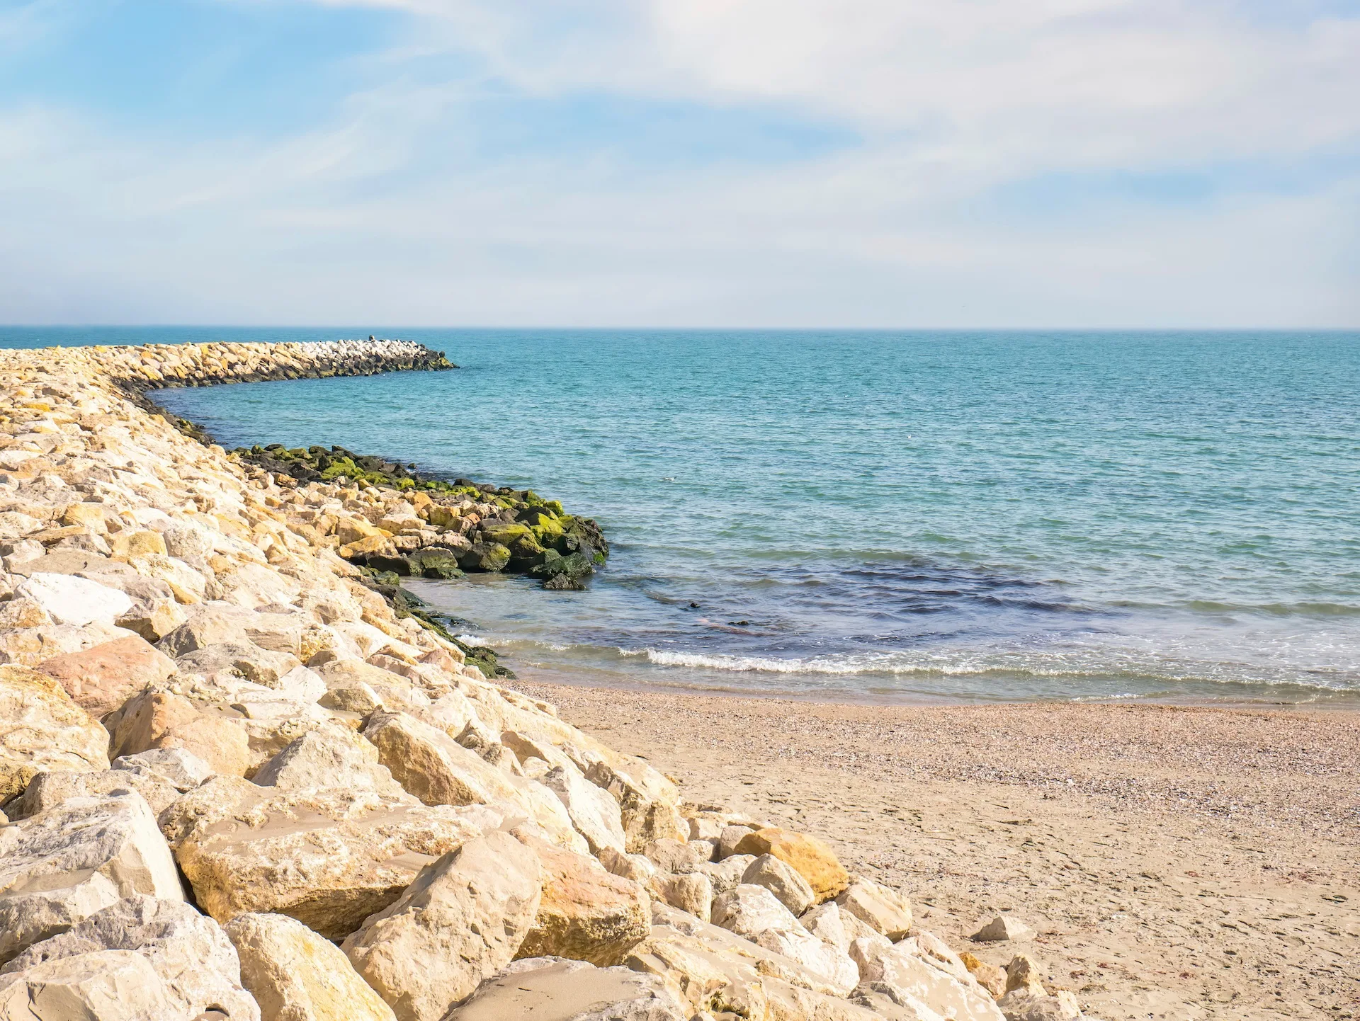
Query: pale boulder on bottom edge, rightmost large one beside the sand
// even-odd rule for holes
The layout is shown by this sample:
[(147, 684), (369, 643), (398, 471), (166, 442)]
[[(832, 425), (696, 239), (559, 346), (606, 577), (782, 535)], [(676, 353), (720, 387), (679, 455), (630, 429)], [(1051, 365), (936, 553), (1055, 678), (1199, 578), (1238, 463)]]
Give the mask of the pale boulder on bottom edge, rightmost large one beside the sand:
[(922, 953), (914, 939), (884, 946), (855, 939), (850, 957), (860, 967), (861, 990), (887, 995), (904, 1007), (922, 1007), (957, 1021), (1005, 1021), (991, 995), (971, 976)]

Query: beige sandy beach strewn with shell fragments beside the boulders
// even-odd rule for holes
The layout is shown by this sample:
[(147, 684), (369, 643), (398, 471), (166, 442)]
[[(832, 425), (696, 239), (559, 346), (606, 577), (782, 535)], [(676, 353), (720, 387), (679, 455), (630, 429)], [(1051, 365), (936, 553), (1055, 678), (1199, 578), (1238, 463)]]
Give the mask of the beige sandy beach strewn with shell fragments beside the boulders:
[(827, 837), (1093, 1017), (1360, 1017), (1360, 714), (883, 707), (520, 681), (685, 797)]

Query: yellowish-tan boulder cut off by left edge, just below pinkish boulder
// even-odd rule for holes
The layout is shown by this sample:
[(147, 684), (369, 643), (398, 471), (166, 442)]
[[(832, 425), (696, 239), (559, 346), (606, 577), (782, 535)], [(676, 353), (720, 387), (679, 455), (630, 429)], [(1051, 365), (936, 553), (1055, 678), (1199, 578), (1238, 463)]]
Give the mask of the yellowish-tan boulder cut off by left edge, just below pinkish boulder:
[(109, 734), (45, 673), (0, 666), (0, 802), (49, 769), (109, 768)]

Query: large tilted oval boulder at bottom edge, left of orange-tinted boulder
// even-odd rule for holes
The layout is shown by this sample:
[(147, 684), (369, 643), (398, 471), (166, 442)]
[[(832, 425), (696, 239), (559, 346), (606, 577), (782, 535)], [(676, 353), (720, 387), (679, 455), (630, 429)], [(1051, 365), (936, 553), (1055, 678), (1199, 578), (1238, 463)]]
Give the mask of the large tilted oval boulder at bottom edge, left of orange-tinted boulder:
[(487, 833), (422, 869), (344, 952), (400, 1021), (439, 1021), (514, 958), (539, 900), (537, 855)]

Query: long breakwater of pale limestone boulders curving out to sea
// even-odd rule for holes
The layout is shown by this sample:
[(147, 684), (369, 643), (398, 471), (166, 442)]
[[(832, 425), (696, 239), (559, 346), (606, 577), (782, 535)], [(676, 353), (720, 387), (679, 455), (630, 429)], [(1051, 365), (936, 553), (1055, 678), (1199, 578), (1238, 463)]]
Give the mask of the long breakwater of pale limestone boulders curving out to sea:
[(956, 952), (824, 842), (687, 802), (398, 615), (340, 555), (388, 491), (282, 483), (146, 397), (423, 367), (452, 366), (0, 352), (0, 1020), (1081, 1016), (1028, 957)]

